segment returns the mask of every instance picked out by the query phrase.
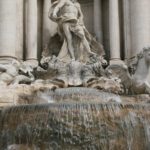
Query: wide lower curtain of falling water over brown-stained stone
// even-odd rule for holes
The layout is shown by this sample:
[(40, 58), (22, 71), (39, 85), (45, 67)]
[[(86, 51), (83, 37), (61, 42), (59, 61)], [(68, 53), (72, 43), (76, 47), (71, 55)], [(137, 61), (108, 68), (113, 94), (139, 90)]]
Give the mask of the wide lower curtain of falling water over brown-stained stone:
[(150, 149), (149, 104), (25, 105), (0, 115), (2, 150)]

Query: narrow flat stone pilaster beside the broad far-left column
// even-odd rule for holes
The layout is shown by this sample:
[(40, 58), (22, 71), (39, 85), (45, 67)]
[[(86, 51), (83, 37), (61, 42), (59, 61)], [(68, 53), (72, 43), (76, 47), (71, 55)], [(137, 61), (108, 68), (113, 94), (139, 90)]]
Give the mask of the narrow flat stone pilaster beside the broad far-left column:
[(16, 0), (17, 23), (16, 23), (16, 57), (23, 59), (23, 37), (24, 37), (24, 0)]

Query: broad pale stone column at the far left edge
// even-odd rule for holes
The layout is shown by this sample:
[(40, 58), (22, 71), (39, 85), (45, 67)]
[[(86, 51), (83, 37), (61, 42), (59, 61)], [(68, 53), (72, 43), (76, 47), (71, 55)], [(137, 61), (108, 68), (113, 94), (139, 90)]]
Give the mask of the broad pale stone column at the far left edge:
[(16, 58), (16, 0), (0, 0), (0, 60)]

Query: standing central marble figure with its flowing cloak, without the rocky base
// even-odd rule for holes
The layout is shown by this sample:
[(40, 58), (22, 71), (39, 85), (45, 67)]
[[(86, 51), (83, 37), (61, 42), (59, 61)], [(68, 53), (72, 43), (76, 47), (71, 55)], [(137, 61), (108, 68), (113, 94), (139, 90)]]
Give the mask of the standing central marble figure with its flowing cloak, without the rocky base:
[[(71, 60), (104, 54), (102, 46), (89, 34), (83, 22), (80, 4), (76, 0), (57, 0), (49, 11), (49, 18), (58, 24), (58, 33), (64, 40), (60, 58), (65, 55)], [(82, 57), (82, 58), (81, 58)]]

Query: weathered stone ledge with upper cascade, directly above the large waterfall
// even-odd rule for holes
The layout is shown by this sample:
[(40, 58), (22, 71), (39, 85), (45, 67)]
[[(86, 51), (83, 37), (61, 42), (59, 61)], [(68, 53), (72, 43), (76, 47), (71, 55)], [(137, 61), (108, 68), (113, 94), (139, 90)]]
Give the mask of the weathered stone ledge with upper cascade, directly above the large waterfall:
[(133, 103), (143, 104), (149, 103), (149, 100), (150, 100), (149, 95), (121, 96), (113, 94), (111, 92), (104, 92), (90, 87), (58, 88), (56, 85), (51, 83), (0, 86), (0, 106), (3, 107), (19, 104), (42, 104), (42, 103), (57, 103), (57, 102), (62, 103), (71, 101), (75, 102), (90, 101), (102, 103), (122, 102), (131, 104)]

